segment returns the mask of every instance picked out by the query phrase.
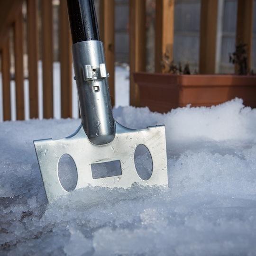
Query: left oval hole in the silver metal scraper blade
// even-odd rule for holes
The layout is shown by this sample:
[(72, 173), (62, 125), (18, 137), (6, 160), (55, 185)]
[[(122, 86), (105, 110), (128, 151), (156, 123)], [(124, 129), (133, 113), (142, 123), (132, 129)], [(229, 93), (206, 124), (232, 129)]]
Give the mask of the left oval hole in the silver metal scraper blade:
[(64, 190), (70, 192), (77, 184), (77, 169), (73, 158), (64, 154), (58, 163), (58, 176)]

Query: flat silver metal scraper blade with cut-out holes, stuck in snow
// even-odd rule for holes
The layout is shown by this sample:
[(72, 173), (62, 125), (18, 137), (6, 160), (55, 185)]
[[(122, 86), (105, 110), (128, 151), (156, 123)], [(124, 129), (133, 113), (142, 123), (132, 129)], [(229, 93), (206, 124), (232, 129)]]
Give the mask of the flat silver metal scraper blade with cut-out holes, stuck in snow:
[[(134, 153), (138, 145), (143, 144), (149, 150), (153, 171), (148, 180), (142, 180), (134, 164)], [(68, 192), (62, 187), (58, 177), (58, 162), (62, 155), (70, 155), (77, 168), (75, 189), (89, 185), (128, 188), (133, 183), (141, 185), (168, 185), (165, 126), (154, 126), (134, 130), (116, 122), (116, 136), (106, 145), (94, 145), (86, 136), (82, 126), (66, 138), (34, 141), (37, 159), (49, 202)], [(91, 165), (119, 160), (122, 175), (93, 179)]]

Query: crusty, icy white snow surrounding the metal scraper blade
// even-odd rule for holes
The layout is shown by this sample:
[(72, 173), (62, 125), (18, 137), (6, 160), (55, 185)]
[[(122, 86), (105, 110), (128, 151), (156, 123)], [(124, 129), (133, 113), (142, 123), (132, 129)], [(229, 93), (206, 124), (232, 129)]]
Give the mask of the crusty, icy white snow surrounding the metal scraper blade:
[(48, 205), (32, 141), (80, 120), (1, 123), (0, 255), (256, 255), (256, 110), (237, 99), (114, 114), (130, 128), (165, 124), (169, 189), (85, 188)]

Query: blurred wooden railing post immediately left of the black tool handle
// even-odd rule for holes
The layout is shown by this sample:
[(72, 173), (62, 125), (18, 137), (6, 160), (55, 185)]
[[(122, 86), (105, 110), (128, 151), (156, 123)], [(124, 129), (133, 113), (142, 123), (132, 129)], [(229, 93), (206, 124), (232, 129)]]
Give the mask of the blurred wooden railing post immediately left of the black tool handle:
[(72, 117), (72, 55), (71, 32), (66, 0), (60, 0), (60, 65), (61, 65), (61, 117)]

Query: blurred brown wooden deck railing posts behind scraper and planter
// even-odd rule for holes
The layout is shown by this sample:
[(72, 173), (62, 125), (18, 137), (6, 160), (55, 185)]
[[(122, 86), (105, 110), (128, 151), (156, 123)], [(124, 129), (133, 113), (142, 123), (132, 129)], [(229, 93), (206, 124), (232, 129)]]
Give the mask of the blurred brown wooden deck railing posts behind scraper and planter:
[[(0, 55), (2, 73), (3, 119), (11, 119), (10, 103), (10, 48), (9, 30), (14, 29), (16, 119), (24, 119), (24, 67), (23, 67), (23, 0), (0, 3)], [(27, 54), (30, 118), (38, 118), (38, 9), (37, 0), (27, 4)], [(253, 0), (238, 0), (237, 42), (248, 46), (251, 55)], [(41, 0), (43, 117), (53, 118), (53, 4)], [(217, 1), (201, 0), (200, 73), (215, 73)], [(104, 42), (107, 68), (110, 74), (110, 94), (114, 105), (115, 62), (115, 5), (114, 0), (100, 0), (100, 32)], [(121, 15), (121, 14), (120, 14)], [(146, 0), (129, 0), (129, 62), (130, 104), (139, 106), (139, 90), (132, 74), (146, 70)], [(164, 54), (173, 56), (174, 0), (156, 1), (155, 70), (161, 72)], [(59, 5), (59, 56), (61, 70), (61, 117), (72, 117), (72, 56), (71, 36), (66, 0)], [(249, 65), (249, 62), (248, 62)]]

